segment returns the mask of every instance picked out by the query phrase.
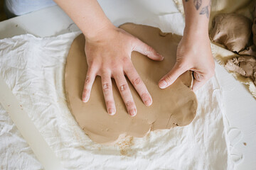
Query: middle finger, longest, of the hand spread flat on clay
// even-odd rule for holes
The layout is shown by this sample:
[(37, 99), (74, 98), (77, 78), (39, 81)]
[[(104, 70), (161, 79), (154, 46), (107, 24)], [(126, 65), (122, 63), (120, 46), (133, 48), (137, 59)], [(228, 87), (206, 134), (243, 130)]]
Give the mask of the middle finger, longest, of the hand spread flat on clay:
[(114, 80), (116, 81), (117, 87), (119, 89), (119, 92), (124, 100), (125, 106), (127, 108), (127, 111), (129, 115), (136, 115), (137, 114), (137, 108), (134, 103), (134, 99), (132, 98), (132, 93), (129, 90), (129, 86), (127, 84), (127, 81), (124, 77), (124, 74), (115, 74)]

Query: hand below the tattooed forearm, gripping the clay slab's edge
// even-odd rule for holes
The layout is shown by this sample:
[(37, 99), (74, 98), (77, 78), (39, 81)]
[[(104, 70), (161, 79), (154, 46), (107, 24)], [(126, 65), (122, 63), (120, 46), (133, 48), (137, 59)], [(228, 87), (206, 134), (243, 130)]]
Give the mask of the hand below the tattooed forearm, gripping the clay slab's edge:
[(159, 81), (159, 87), (164, 89), (176, 81), (187, 70), (193, 71), (193, 91), (198, 90), (214, 75), (215, 63), (210, 49), (210, 40), (207, 34), (187, 34), (178, 44), (176, 64), (171, 71)]

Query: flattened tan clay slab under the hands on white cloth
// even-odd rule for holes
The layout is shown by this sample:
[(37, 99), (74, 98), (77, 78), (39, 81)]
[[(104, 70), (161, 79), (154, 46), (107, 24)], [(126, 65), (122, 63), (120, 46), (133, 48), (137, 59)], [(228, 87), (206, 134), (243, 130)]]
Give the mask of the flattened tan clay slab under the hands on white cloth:
[(165, 57), (164, 61), (156, 62), (138, 52), (132, 52), (134, 67), (146, 84), (153, 98), (153, 104), (149, 107), (144, 106), (132, 84), (129, 83), (137, 106), (137, 115), (131, 117), (112, 80), (117, 113), (108, 115), (100, 77), (95, 79), (90, 100), (82, 103), (87, 63), (84, 50), (85, 38), (79, 35), (73, 41), (68, 54), (65, 66), (65, 91), (70, 111), (80, 128), (94, 142), (110, 144), (117, 142), (121, 137), (144, 137), (150, 130), (169, 129), (191, 123), (197, 109), (196, 95), (191, 91), (192, 73), (185, 72), (167, 89), (159, 89), (158, 86), (159, 79), (174, 66), (176, 48), (181, 37), (171, 33), (162, 34), (159, 28), (132, 23), (126, 23), (121, 28), (151, 45)]

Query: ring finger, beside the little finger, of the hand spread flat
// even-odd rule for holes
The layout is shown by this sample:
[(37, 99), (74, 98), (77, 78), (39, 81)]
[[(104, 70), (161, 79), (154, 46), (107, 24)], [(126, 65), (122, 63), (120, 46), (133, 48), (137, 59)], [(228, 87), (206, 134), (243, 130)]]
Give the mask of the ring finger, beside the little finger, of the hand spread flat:
[(111, 81), (111, 74), (104, 73), (102, 74), (102, 91), (105, 98), (105, 103), (107, 107), (107, 113), (110, 115), (114, 115), (116, 112), (116, 108), (114, 106), (114, 96), (112, 91), (112, 81)]

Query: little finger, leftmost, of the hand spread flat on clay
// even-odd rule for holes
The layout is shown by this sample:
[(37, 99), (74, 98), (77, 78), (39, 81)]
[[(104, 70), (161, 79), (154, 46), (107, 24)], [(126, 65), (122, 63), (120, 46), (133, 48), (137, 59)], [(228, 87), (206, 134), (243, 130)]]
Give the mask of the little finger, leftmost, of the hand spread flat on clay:
[(85, 85), (84, 85), (84, 89), (82, 91), (82, 102), (84, 102), (84, 103), (89, 101), (90, 91), (92, 89), (92, 84), (95, 81), (95, 77), (96, 77), (96, 69), (92, 69), (92, 67), (89, 67), (87, 69)]

